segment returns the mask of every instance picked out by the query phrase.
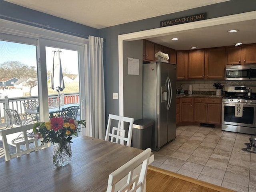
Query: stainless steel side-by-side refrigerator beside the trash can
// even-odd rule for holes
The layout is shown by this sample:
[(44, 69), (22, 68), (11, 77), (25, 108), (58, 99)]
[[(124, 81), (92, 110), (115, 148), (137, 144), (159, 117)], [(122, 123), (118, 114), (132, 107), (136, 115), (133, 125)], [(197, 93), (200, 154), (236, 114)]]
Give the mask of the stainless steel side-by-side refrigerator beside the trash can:
[(176, 64), (143, 64), (143, 118), (154, 120), (153, 150), (176, 138)]

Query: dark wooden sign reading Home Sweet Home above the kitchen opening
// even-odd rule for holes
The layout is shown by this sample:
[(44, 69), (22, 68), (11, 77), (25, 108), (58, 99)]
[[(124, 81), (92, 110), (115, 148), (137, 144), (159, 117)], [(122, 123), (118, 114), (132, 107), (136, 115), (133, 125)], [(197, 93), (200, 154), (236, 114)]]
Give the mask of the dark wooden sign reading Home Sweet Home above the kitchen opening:
[(196, 14), (196, 15), (161, 21), (160, 27), (178, 25), (178, 24), (183, 24), (183, 23), (200, 21), (200, 20), (204, 20), (204, 19), (206, 19), (206, 13), (200, 13), (200, 14)]

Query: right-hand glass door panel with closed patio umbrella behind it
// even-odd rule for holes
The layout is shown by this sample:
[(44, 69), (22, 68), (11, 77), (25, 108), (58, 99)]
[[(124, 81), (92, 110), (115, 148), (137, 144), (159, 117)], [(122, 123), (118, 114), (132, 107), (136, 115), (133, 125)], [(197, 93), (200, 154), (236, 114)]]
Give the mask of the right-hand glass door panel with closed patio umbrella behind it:
[[(84, 72), (84, 47), (53, 40), (39, 39), (40, 53), (40, 82), (39, 91), (42, 95), (40, 114), (47, 120), (48, 112), (58, 113), (62, 108), (79, 106), (77, 120), (85, 120), (85, 72)], [(58, 64), (62, 71), (52, 73), (53, 64), (59, 56)], [(53, 82), (53, 75), (62, 76), (64, 81), (62, 89), (56, 89), (58, 82)], [(54, 87), (52, 87), (54, 86)], [(54, 101), (52, 103), (52, 101)], [(57, 101), (57, 102), (55, 102)]]

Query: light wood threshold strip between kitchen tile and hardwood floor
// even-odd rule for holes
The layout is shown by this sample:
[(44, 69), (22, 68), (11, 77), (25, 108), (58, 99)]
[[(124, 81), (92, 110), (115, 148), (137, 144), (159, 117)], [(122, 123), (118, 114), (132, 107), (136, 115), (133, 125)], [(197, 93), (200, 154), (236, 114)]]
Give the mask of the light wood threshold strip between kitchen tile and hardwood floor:
[[(204, 181), (201, 181), (201, 180), (190, 178), (188, 176), (184, 176), (184, 175), (181, 175), (181, 174), (178, 174), (178, 173), (170, 172), (168, 170), (164, 170), (164, 169), (161, 169), (161, 168), (158, 168), (158, 167), (154, 167), (154, 166), (149, 165), (148, 170), (153, 170), (153, 171), (156, 171), (156, 172), (160, 172), (162, 174), (166, 174), (166, 175), (172, 176), (174, 178), (178, 178), (178, 179), (181, 179), (181, 180), (185, 180), (185, 181), (197, 184), (197, 185), (199, 185), (199, 187), (198, 187), (198, 190), (196, 190), (196, 192), (199, 192), (199, 191), (204, 192), (205, 191), (205, 189), (203, 189), (203, 188), (201, 190), (200, 186), (205, 187), (205, 188), (210, 188), (210, 189), (216, 190), (218, 192), (236, 192), (236, 191), (231, 190), (231, 189), (227, 189), (227, 188), (217, 186), (217, 185), (214, 185), (214, 184), (211, 184), (211, 183), (207, 183), (207, 182), (204, 182)], [(206, 192), (207, 192), (207, 190), (206, 190)]]

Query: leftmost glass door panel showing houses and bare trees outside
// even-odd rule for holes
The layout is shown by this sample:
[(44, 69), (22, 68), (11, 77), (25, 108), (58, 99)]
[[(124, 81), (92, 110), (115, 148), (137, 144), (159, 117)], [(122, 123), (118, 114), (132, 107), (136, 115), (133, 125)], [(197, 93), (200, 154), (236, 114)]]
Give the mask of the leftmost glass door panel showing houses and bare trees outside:
[(37, 43), (34, 38), (0, 33), (0, 128), (13, 121), (5, 109), (16, 110), (20, 119), (36, 120), (24, 106), (38, 103), (38, 91), (31, 92), (38, 84)]

